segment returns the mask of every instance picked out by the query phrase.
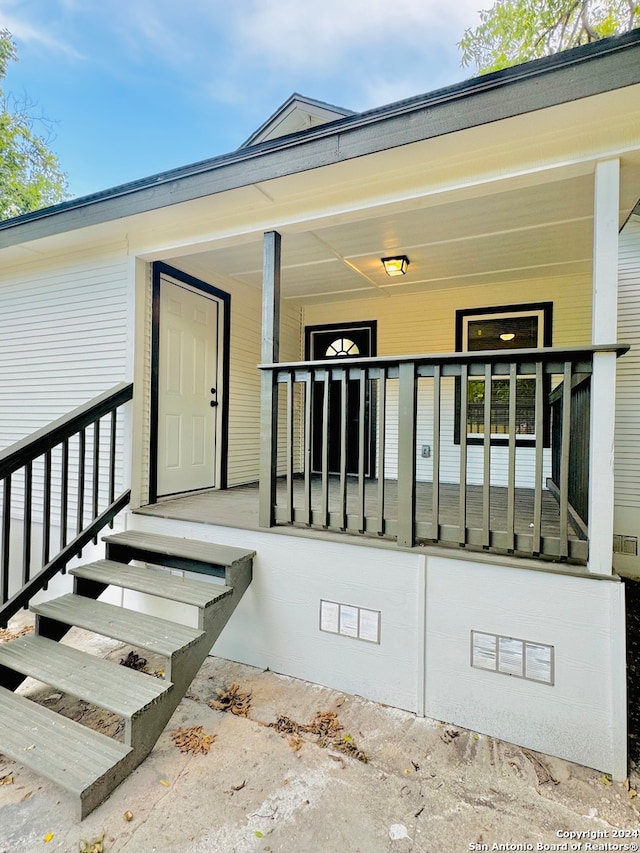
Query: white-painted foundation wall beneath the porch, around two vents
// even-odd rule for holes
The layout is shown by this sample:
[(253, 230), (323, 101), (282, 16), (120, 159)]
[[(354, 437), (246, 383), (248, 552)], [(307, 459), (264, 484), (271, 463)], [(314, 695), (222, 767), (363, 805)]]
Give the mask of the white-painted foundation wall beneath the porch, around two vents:
[[(348, 537), (139, 515), (128, 526), (256, 550), (215, 654), (626, 775), (622, 584)], [(380, 611), (380, 643), (321, 631), (321, 599)], [(473, 668), (472, 630), (553, 646), (554, 683)]]

